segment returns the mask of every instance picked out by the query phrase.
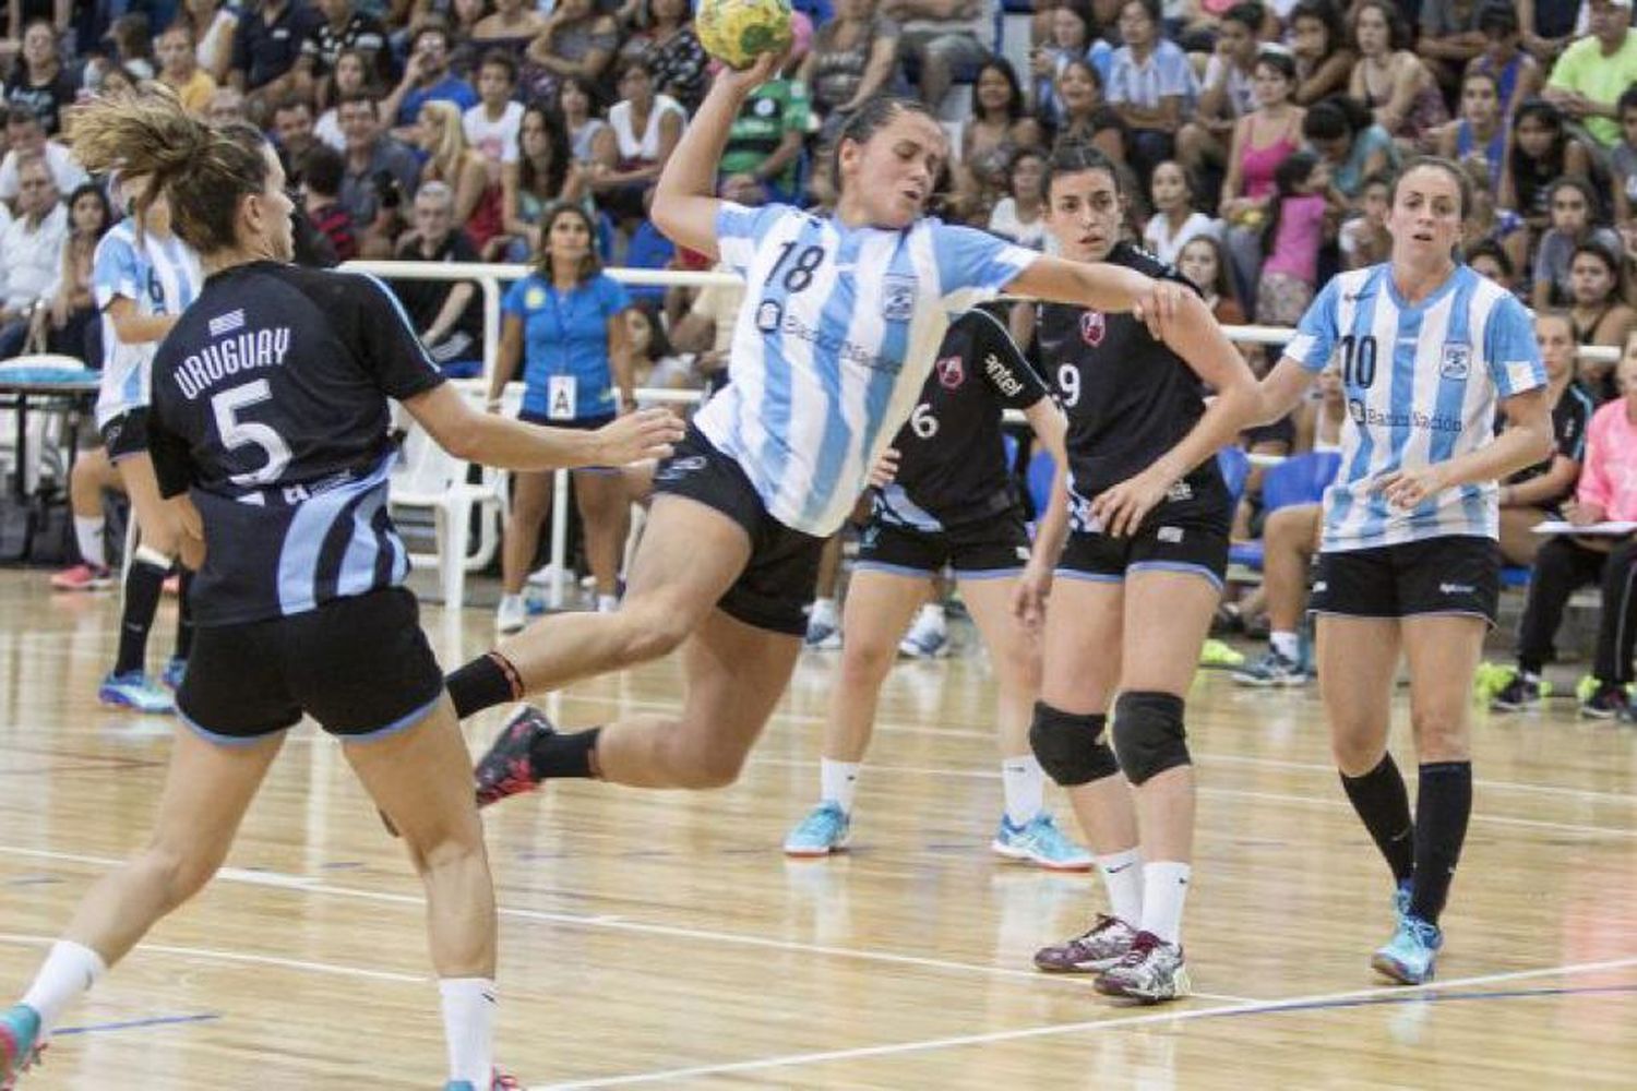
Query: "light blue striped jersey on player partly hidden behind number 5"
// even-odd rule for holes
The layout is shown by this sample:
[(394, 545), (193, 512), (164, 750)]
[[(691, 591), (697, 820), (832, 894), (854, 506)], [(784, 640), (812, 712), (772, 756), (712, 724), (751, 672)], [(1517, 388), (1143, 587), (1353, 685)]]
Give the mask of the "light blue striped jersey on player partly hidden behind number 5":
[(147, 406), (149, 371), (157, 340), (124, 345), (113, 332), (108, 304), (116, 296), (136, 303), (138, 314), (182, 314), (200, 294), (205, 275), (188, 244), (170, 236), (144, 232), (136, 237), (136, 221), (121, 219), (108, 229), (92, 257), (92, 296), (103, 324), (103, 373), (97, 394), (97, 427), (128, 409)]

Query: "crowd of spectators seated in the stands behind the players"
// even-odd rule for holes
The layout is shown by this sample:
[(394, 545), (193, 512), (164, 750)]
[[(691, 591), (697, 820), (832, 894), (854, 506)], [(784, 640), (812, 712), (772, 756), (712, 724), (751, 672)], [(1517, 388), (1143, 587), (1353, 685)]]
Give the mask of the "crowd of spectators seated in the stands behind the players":
[[(1224, 322), (1288, 326), (1337, 270), (1387, 257), (1393, 170), (1434, 152), (1475, 183), (1478, 272), (1560, 312), (1575, 345), (1637, 327), (1632, 0), (1000, 3), (796, 0), (796, 44), (735, 121), (720, 193), (825, 209), (840, 123), (876, 92), (918, 95), (951, 137), (943, 218), (1048, 245), (1046, 155), (1087, 141), (1130, 173), (1133, 240)], [(710, 79), (691, 20), (689, 0), (10, 0), (0, 353), (93, 357), (88, 252), (118, 209), (74, 162), (69, 106), (146, 83), (270, 134), (309, 260), (539, 265), (566, 203), (602, 263), (702, 268), (645, 214)], [(440, 363), (481, 358), (470, 285), (401, 296)], [(617, 335), (609, 319), (622, 383), (704, 383), (730, 312), (717, 291), (632, 290)], [(1621, 396), (1609, 365), (1575, 381)], [(1292, 453), (1310, 432), (1246, 442)], [(1247, 496), (1249, 533), (1254, 479)]]

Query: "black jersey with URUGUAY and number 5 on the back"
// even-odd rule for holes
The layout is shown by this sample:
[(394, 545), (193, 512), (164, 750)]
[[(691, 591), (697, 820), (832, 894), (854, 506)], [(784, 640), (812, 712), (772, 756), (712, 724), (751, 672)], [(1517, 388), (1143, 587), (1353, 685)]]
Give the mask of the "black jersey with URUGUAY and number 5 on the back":
[(205, 520), (198, 623), (403, 582), (386, 399), (442, 381), (373, 276), (254, 262), (206, 280), (154, 357), (149, 412), (160, 491)]

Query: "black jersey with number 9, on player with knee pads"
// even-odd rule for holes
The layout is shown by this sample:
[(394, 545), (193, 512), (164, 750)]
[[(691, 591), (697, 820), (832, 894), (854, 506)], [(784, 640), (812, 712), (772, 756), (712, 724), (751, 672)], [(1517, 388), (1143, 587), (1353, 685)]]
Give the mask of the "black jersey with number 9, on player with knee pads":
[[(1128, 242), (1105, 260), (1193, 288)], [(1035, 326), (1046, 381), (1069, 414), (1069, 484), (1080, 499), (1151, 466), (1205, 415), (1200, 376), (1134, 316), (1043, 303)], [(1190, 478), (1215, 466), (1208, 460)]]

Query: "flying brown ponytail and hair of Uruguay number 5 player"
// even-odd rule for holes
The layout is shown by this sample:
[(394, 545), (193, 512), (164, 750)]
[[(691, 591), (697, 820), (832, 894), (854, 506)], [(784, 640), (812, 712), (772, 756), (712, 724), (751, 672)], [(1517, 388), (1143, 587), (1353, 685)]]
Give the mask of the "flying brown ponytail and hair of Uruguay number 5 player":
[(75, 106), (72, 118), (74, 155), (85, 170), (139, 180), (138, 216), (165, 196), (190, 247), (213, 254), (236, 245), (239, 198), (267, 186), (265, 139), (254, 126), (206, 124), (160, 87)]

